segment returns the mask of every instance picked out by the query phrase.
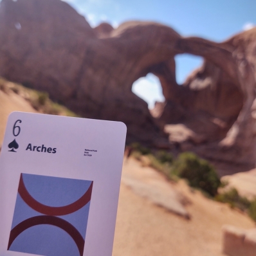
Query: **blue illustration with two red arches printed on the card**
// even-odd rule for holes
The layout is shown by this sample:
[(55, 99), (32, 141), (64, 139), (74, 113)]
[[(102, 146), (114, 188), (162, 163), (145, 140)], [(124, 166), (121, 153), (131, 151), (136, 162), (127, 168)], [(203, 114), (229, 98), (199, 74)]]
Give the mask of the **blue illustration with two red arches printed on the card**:
[(93, 181), (21, 174), (8, 250), (82, 256)]

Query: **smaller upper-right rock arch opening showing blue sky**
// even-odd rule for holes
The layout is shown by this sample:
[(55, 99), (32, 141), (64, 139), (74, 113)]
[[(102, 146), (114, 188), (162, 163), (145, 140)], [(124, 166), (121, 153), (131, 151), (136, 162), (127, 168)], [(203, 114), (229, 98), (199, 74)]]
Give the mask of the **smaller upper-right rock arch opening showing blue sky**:
[(188, 75), (192, 73), (196, 68), (199, 68), (203, 64), (203, 57), (196, 55), (183, 53), (174, 57), (176, 63), (176, 82), (177, 84), (183, 84)]

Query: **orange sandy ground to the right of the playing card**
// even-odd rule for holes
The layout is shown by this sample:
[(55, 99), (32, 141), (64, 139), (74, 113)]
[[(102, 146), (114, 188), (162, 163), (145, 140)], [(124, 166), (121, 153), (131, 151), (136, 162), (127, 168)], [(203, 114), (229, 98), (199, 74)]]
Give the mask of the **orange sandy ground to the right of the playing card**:
[[(147, 168), (131, 158), (123, 165), (123, 173)], [(192, 202), (186, 206), (190, 220), (154, 205), (121, 183), (113, 256), (221, 256), (224, 224), (255, 227), (246, 215), (192, 192), (183, 182), (174, 187)]]

